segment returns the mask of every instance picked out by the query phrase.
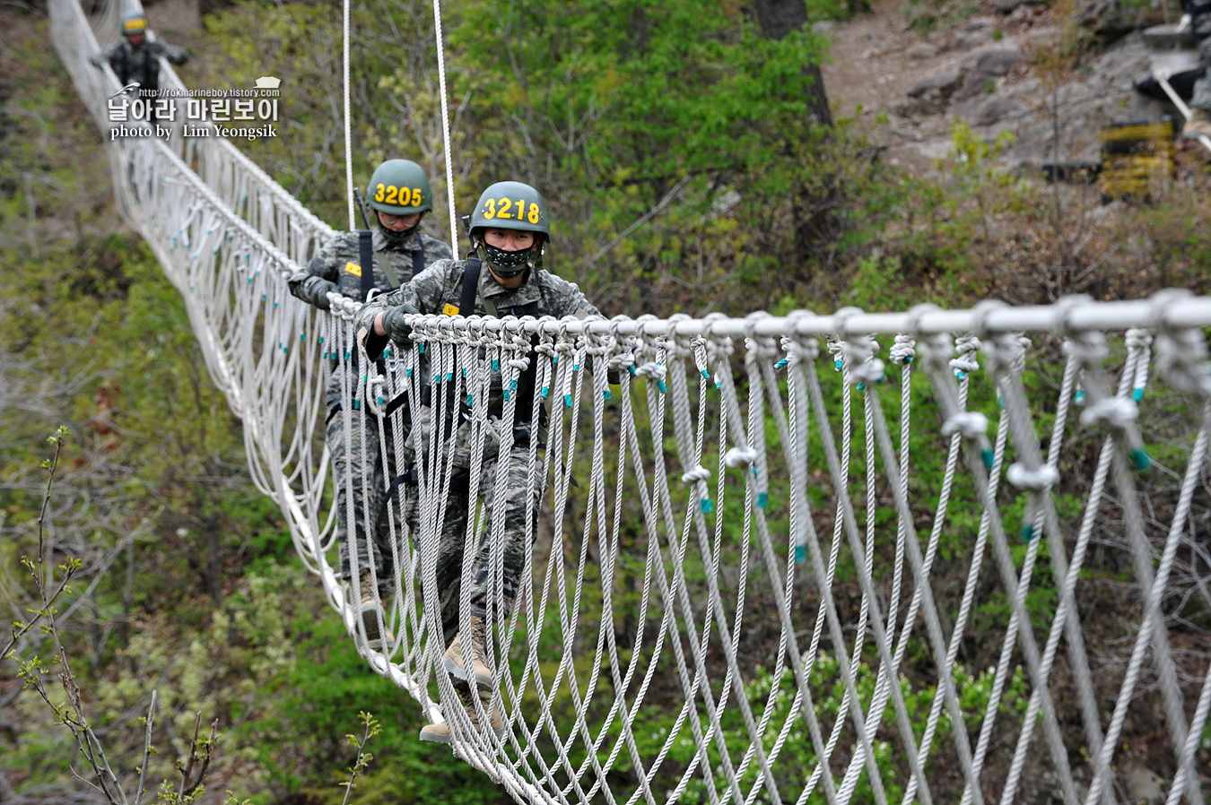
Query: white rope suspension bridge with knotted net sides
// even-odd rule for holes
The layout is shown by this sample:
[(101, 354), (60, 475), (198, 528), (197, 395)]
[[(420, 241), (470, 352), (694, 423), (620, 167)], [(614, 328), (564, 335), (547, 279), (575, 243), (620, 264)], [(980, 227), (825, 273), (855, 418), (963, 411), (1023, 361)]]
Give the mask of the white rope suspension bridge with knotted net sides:
[[(51, 11), (108, 130), (117, 84), (87, 63), (93, 33), (75, 0)], [(98, 28), (113, 36), (115, 19)], [(1211, 299), (417, 316), (411, 349), (355, 369), (357, 305), (333, 295), (318, 311), (286, 287), (331, 230), (224, 139), (179, 134), (107, 137), (114, 190), (245, 424), (254, 483), (369, 667), (444, 715), (454, 752), (518, 801), (1109, 805), (1135, 795), (1130, 763), (1166, 805), (1204, 801)], [(520, 413), (509, 391), (527, 369), (539, 393)], [(331, 370), (346, 373), (346, 432), (378, 427), (380, 444), (408, 427), (386, 401), (442, 391), (415, 533), (385, 510), (398, 575), (385, 651), (329, 565), (351, 499), (315, 441)], [(467, 414), (476, 478), (486, 443), (507, 461), (513, 424), (540, 407), (529, 499), (545, 493), (527, 511), (518, 605), (488, 642), (492, 695), (475, 705), (478, 724), (504, 713), (498, 736), (438, 671), (429, 615), (459, 447), (448, 425)], [(500, 523), (484, 519), (470, 495), (467, 557), (487, 540), (500, 568)], [(494, 588), (489, 613), (504, 613)]]

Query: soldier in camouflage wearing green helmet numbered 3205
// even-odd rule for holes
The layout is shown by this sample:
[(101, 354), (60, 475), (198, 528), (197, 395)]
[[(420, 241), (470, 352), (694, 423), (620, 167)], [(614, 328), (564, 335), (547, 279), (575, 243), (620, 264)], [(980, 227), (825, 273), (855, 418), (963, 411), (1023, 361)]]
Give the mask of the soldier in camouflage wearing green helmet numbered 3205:
[[(340, 293), (350, 299), (365, 301), (368, 294), (388, 293), (407, 282), (437, 260), (453, 257), (449, 246), (420, 231), (420, 219), (434, 208), (429, 177), (415, 162), (388, 160), (371, 177), (366, 189), (367, 203), (378, 218), (372, 234), (374, 249), (373, 269), (365, 275), (361, 263), (358, 234), (338, 232), (327, 246), (311, 258), (305, 270), (288, 280), (291, 293), (322, 310), (328, 310), (328, 293)], [(375, 356), (377, 357), (377, 356)], [(349, 376), (360, 376), (356, 370), (333, 372), (325, 393), (327, 404), (328, 453), (332, 456), (334, 488), (344, 495), (345, 484), (352, 488), (352, 512), (357, 551), (360, 613), (366, 625), (371, 648), (384, 648), (392, 640), (388, 631), (380, 633), (380, 600), (388, 600), (395, 592), (395, 568), (391, 567), (392, 546), (390, 522), (386, 516), (388, 488), (398, 478), (395, 464), (394, 436), (390, 422), (384, 422), (388, 438), (385, 452), (389, 466), (384, 467), (379, 444), (377, 416), (361, 408), (342, 414), (344, 383)], [(352, 390), (349, 390), (350, 392)], [(362, 395), (354, 395), (361, 397)], [(349, 432), (345, 432), (349, 420)], [(362, 427), (365, 425), (365, 427)], [(362, 433), (365, 431), (365, 441)], [(407, 435), (404, 435), (407, 436)], [(407, 472), (409, 467), (403, 467)], [(368, 476), (368, 477), (367, 477)], [(344, 502), (344, 501), (343, 501)], [(349, 522), (345, 506), (337, 506), (337, 537), (340, 545), (340, 569), (351, 576), (346, 542)], [(367, 528), (366, 512), (373, 521)], [(398, 523), (398, 518), (396, 523)], [(398, 525), (396, 527), (400, 528)], [(367, 533), (373, 540), (367, 539)], [(375, 590), (369, 568), (378, 577)], [(385, 626), (383, 627), (384, 631)]]

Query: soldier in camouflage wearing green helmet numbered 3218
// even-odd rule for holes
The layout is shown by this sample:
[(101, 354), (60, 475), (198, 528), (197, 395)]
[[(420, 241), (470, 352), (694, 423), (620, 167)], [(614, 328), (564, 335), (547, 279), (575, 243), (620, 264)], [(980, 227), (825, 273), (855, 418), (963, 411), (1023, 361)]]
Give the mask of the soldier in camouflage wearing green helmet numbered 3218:
[[(412, 330), (404, 321), (408, 314), (461, 312), (466, 316), (477, 314), (557, 318), (596, 316), (597, 309), (589, 304), (580, 288), (543, 269), (543, 253), (550, 242), (550, 236), (546, 202), (534, 188), (518, 182), (500, 182), (489, 186), (480, 196), (471, 217), (471, 242), (478, 263), (488, 270), (478, 271), (477, 266), (472, 265), (472, 270), (469, 271), (467, 260), (441, 260), (398, 291), (373, 299), (357, 315), (357, 328), (360, 334), (363, 333), (366, 352), (371, 356), (380, 353), (389, 340), (401, 346), (411, 345)], [(475, 275), (478, 275), (477, 280), (472, 278)], [(472, 282), (474, 297), (470, 284)], [(467, 283), (465, 295), (464, 283)], [(459, 310), (464, 298), (475, 299), (474, 310)], [(533, 393), (533, 386), (529, 393)], [(529, 416), (530, 404), (521, 402), (524, 398), (524, 390), (520, 390), (518, 398), (516, 409), (518, 419), (513, 422), (512, 450), (500, 455), (499, 439), (489, 438), (484, 449), (482, 472), (475, 478), (474, 484), (470, 478), (471, 452), (466, 448), (470, 442), (471, 424), (466, 418), (461, 419), (458, 432), (453, 435), (455, 470), (449, 482), (450, 493), (435, 568), (437, 594), (442, 605), (442, 628), (449, 646), (443, 665), (458, 680), (455, 689), (463, 696), (472, 724), (476, 725), (478, 721), (475, 707), (470, 702), (471, 688), (492, 690), (494, 685), (493, 672), (488, 667), (486, 642), (489, 628), (488, 600), (498, 592), (494, 587), (498, 574), (489, 564), (492, 547), (487, 539), (482, 539), (470, 573), (472, 588), (465, 592), (471, 605), (471, 634), (465, 639), (464, 648), (464, 640), (458, 634), (458, 621), (470, 495), (474, 491), (484, 502), (486, 534), (492, 534), (492, 524), (497, 517), (504, 518), (504, 567), (499, 574), (503, 581), (499, 592), (504, 606), (503, 610), (493, 613), (500, 620), (507, 619), (517, 597), (526, 553), (533, 539), (534, 523), (528, 522), (527, 511), (536, 512), (543, 498), (539, 483), (534, 500), (527, 500), (532, 471), (535, 478), (544, 477), (541, 443), (538, 466), (533, 468), (529, 466), (532, 433), (533, 438), (541, 438), (541, 422), (520, 419)], [(500, 374), (493, 373), (488, 399), (489, 433), (497, 432), (503, 407)], [(423, 414), (427, 415), (427, 412)], [(427, 427), (418, 419), (408, 438), (408, 449), (418, 452), (420, 461), (427, 460), (425, 455), (427, 445), (424, 443), (427, 433)], [(507, 475), (500, 511), (497, 510), (494, 500), (499, 472)], [(467, 660), (471, 662), (470, 668), (466, 667)], [(492, 714), (492, 728), (493, 730), (503, 728), (499, 712)], [(430, 724), (421, 730), (420, 737), (423, 741), (446, 743), (449, 741), (449, 732), (446, 724)]]

